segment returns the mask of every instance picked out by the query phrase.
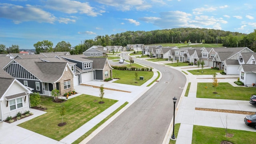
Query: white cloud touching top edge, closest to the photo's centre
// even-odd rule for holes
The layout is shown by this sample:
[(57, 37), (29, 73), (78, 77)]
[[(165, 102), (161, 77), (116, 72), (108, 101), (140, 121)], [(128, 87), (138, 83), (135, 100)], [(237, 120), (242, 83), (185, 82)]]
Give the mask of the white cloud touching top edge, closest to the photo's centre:
[[(107, 6), (113, 6), (117, 10), (129, 11), (129, 10), (148, 10), (152, 5), (148, 4), (146, 0), (94, 0), (100, 4)], [(157, 0), (162, 1), (162, 0)]]

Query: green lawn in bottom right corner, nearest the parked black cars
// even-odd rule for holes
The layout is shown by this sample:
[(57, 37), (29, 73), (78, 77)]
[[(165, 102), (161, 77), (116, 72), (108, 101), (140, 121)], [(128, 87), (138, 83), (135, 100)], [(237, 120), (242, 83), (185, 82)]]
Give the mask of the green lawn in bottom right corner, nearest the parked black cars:
[(227, 133), (234, 134), (234, 136), (227, 138), (225, 128), (194, 125), (192, 144), (220, 144), (223, 140), (228, 140), (233, 144), (255, 144), (256, 132), (227, 129)]

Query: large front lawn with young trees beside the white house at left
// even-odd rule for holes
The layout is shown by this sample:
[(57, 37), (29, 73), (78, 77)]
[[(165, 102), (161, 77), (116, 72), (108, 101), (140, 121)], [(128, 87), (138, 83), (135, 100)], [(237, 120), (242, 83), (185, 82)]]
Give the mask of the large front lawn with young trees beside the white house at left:
[[(117, 100), (103, 98), (105, 103), (99, 104), (99, 97), (85, 94), (69, 99), (64, 103), (55, 103), (52, 102), (52, 98), (46, 97), (41, 97), (41, 100), (40, 104), (48, 108), (47, 113), (18, 126), (58, 141), (117, 102)], [(63, 105), (66, 107), (63, 122), (67, 124), (59, 127), (58, 124), (62, 122), (60, 108)]]

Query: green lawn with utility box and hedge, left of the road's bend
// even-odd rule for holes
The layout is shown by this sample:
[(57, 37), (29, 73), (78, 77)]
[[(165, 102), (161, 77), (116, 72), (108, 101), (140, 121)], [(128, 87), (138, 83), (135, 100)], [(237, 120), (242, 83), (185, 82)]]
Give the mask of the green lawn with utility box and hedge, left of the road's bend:
[[(138, 73), (138, 78), (135, 80), (135, 72)], [(131, 71), (131, 70), (113, 70), (114, 78), (120, 78), (115, 83), (119, 84), (130, 84), (134, 86), (141, 86), (148, 81), (154, 73), (152, 71)], [(140, 76), (144, 76), (144, 80), (140, 80)]]

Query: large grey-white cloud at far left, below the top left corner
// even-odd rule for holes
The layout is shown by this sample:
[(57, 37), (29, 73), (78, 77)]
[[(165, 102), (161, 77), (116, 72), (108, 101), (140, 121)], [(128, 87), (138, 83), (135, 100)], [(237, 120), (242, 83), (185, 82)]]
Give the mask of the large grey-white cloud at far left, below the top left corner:
[(0, 4), (0, 18), (13, 20), (15, 24), (28, 21), (47, 22), (53, 24), (56, 17), (36, 6), (18, 6), (14, 4)]

